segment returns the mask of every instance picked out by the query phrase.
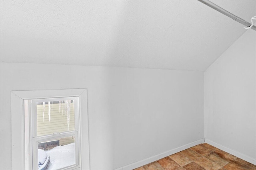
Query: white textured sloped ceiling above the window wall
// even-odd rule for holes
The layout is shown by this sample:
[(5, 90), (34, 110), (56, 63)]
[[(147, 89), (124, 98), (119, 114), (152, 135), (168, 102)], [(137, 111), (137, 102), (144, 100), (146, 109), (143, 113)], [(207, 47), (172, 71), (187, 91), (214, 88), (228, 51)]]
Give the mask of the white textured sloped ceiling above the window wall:
[[(212, 1), (250, 21), (255, 0)], [(204, 71), (246, 29), (196, 0), (0, 1), (1, 62)]]

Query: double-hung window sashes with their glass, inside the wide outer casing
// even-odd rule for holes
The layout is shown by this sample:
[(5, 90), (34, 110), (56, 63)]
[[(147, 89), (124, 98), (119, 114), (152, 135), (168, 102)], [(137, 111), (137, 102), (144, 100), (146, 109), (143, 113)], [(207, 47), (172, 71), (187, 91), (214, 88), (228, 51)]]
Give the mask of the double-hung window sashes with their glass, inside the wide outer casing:
[(31, 106), (27, 114), (31, 117), (28, 122), (33, 170), (80, 167), (78, 100), (78, 97), (25, 100)]

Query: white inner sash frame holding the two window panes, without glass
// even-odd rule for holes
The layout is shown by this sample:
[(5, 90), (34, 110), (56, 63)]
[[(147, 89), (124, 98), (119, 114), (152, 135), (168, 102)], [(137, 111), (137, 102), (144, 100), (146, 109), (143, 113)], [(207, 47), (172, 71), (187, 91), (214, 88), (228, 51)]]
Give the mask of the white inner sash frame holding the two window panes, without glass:
[[(60, 132), (57, 134), (48, 134), (48, 135), (43, 135), (43, 136), (38, 136), (37, 135), (37, 114), (36, 114), (36, 103), (37, 102), (43, 102), (48, 100), (50, 101), (60, 101), (60, 100), (73, 100), (74, 101), (74, 121), (75, 121), (75, 129), (74, 131), (65, 131), (65, 132)], [(46, 98), (46, 99), (35, 99), (35, 100), (25, 100), (28, 101), (28, 104), (30, 104), (31, 106), (31, 110), (29, 109), (29, 111), (25, 111), (25, 117), (26, 114), (29, 114), (29, 116), (27, 117), (31, 117), (29, 119), (30, 123), (27, 123), (27, 125), (30, 125), (31, 128), (29, 129), (29, 132), (25, 130), (25, 137), (29, 136), (31, 134), (31, 137), (27, 137), (25, 139), (25, 145), (27, 143), (30, 143), (30, 139), (32, 138), (32, 143), (30, 143), (30, 152), (26, 153), (27, 150), (25, 150), (25, 154), (26, 155), (31, 155), (30, 156), (30, 160), (33, 161), (33, 163), (31, 163), (29, 160), (25, 161), (25, 168), (29, 169), (27, 167), (30, 167), (30, 169), (36, 170), (38, 168), (38, 156), (33, 156), (32, 155), (38, 155), (38, 142), (46, 142), (46, 141), (54, 141), (57, 139), (60, 139), (61, 137), (70, 137), (70, 136), (75, 136), (75, 154), (76, 154), (76, 162), (75, 165), (70, 165), (66, 168), (61, 168), (61, 169), (65, 169), (65, 170), (74, 170), (76, 168), (80, 167), (80, 128), (79, 128), (79, 99), (78, 97), (72, 97), (72, 98)], [(26, 106), (25, 106), (26, 107)], [(26, 127), (26, 120), (25, 120), (25, 127)], [(32, 131), (31, 131), (32, 130)], [(28, 134), (26, 134), (28, 133)], [(32, 153), (32, 154), (31, 154)], [(31, 165), (33, 164), (32, 168)], [(75, 166), (75, 167), (74, 167)], [(69, 168), (70, 167), (70, 168)]]

